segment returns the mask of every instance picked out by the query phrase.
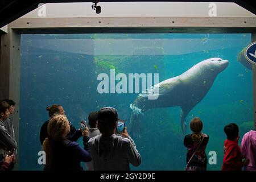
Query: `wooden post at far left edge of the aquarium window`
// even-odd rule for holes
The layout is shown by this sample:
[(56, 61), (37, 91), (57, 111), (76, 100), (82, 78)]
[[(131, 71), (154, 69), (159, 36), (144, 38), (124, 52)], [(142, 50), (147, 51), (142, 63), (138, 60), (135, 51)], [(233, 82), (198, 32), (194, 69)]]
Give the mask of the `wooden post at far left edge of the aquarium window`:
[[(20, 34), (8, 29), (8, 34), (1, 36), (0, 100), (11, 99), (16, 102), (15, 113), (11, 115), (11, 119), (19, 152)], [(15, 169), (18, 169), (18, 161)]]

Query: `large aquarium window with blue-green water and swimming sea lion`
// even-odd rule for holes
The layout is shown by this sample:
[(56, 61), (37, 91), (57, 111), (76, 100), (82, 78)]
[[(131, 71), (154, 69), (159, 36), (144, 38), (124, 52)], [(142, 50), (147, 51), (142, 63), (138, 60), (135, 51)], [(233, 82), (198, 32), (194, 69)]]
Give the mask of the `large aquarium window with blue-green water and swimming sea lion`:
[(135, 170), (184, 170), (184, 134), (200, 117), (208, 159), (217, 157), (208, 170), (220, 170), (224, 126), (237, 123), (241, 137), (253, 129), (252, 71), (242, 54), (250, 43), (250, 34), (22, 35), (20, 169), (43, 169), (40, 127), (46, 107), (60, 104), (76, 129), (91, 111), (115, 107), (142, 156)]

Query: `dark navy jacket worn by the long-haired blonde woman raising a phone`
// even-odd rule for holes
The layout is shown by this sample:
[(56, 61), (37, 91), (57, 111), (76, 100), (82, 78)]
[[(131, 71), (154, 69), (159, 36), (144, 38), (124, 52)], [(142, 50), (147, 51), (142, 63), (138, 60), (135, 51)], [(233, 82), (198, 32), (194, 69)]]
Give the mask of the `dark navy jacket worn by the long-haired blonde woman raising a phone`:
[(56, 141), (50, 139), (50, 145), (52, 149), (51, 164), (46, 170), (68, 170), (68, 171), (80, 171), (82, 170), (80, 162), (90, 162), (89, 137), (84, 137), (84, 149), (82, 149), (78, 143), (71, 142), (68, 139)]

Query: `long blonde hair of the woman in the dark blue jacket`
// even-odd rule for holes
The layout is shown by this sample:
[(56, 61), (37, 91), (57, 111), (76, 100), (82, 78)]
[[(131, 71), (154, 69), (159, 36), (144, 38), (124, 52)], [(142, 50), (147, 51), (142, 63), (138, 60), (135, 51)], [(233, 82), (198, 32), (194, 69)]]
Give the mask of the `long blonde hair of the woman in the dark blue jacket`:
[(48, 170), (52, 161), (51, 140), (62, 140), (69, 133), (70, 127), (68, 118), (65, 115), (55, 115), (48, 123), (48, 137), (43, 142), (43, 150), (46, 152), (46, 166), (44, 170)]

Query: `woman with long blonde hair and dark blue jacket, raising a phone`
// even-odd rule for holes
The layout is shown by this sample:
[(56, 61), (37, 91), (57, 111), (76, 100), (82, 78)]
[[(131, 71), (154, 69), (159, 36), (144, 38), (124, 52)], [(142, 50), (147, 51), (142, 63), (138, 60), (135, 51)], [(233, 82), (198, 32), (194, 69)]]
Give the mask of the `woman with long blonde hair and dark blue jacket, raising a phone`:
[(67, 139), (70, 131), (69, 121), (65, 115), (52, 117), (48, 124), (48, 137), (43, 142), (46, 152), (45, 171), (70, 170), (80, 171), (80, 162), (90, 162), (88, 127), (82, 132), (84, 148), (77, 142)]

